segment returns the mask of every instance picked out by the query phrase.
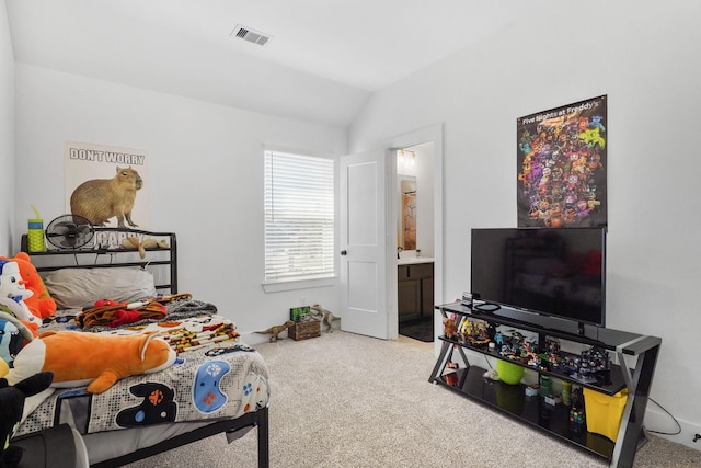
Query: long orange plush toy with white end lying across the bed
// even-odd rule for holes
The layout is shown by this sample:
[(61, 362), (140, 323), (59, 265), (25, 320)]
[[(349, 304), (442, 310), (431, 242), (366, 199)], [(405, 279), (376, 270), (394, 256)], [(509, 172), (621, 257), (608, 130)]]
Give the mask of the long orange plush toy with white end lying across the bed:
[(47, 331), (32, 340), (5, 376), (10, 385), (38, 372), (54, 373), (51, 387), (81, 387), (102, 393), (120, 378), (170, 367), (175, 351), (157, 332), (101, 335), (76, 331)]

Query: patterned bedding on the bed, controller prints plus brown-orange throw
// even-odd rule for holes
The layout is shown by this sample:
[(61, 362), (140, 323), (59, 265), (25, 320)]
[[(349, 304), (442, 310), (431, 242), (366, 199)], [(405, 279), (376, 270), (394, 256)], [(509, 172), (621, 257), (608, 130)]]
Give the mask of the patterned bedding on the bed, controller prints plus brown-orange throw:
[[(134, 334), (159, 330), (179, 353), (170, 368), (126, 377), (107, 391), (56, 389), (35, 404), (14, 434), (68, 423), (82, 434), (151, 424), (235, 419), (267, 404), (267, 367), (252, 347), (238, 342), (235, 324), (205, 303), (169, 305), (160, 321), (141, 321), (96, 333)], [(175, 313), (175, 309), (180, 313)], [(171, 313), (172, 312), (172, 313)], [(62, 311), (46, 330), (77, 330), (77, 313)]]

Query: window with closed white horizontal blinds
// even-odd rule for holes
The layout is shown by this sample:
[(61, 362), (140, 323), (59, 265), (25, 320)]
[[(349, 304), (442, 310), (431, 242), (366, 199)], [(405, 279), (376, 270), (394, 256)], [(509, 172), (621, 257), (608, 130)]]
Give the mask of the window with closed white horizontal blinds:
[(334, 276), (334, 161), (265, 151), (265, 282)]

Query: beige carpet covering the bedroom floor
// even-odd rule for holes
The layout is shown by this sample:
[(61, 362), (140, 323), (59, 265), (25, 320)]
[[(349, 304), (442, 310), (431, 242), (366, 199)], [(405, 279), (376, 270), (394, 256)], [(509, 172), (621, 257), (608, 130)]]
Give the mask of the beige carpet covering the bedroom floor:
[[(271, 368), (272, 467), (605, 467), (573, 448), (428, 383), (433, 344), (335, 331), (257, 345)], [(130, 464), (256, 467), (255, 430)], [(701, 452), (651, 437), (635, 467), (699, 467)]]

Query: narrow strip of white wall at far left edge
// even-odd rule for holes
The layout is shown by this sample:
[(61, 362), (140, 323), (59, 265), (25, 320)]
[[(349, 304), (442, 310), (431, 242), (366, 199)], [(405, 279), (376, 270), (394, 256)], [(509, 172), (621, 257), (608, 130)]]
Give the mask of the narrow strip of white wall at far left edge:
[(4, 0), (0, 0), (0, 254), (14, 230), (14, 56)]

